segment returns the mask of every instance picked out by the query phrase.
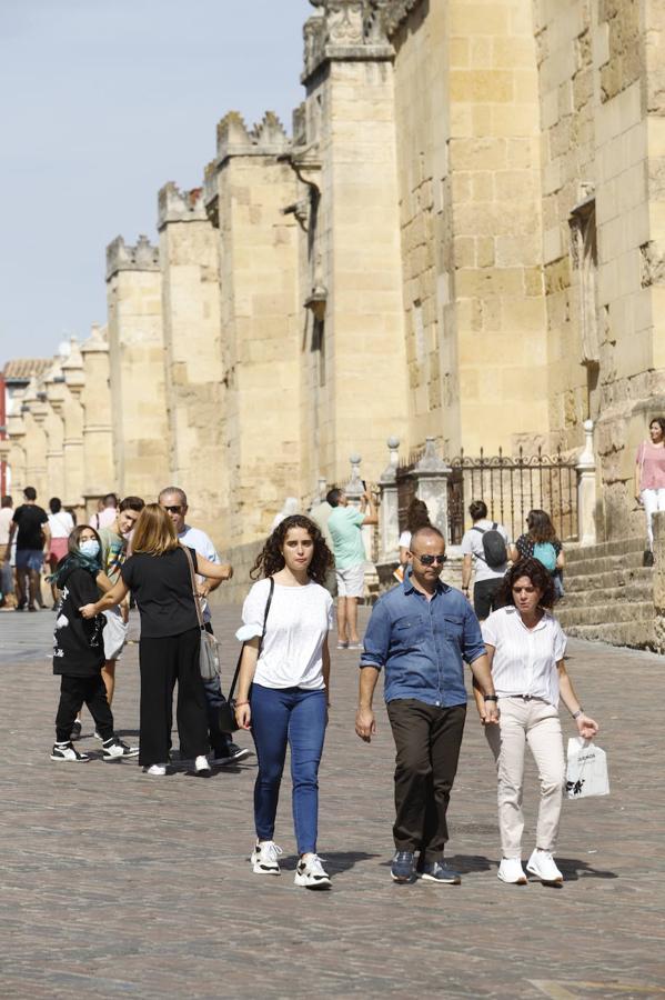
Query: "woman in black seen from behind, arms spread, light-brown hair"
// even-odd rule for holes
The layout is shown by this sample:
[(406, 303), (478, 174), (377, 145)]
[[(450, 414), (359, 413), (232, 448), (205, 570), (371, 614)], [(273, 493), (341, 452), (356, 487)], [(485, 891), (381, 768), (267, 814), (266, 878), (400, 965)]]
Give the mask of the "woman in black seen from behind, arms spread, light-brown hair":
[[(209, 562), (194, 549), (189, 552), (194, 572), (212, 579), (225, 578), (225, 567)], [(141, 614), (139, 763), (149, 774), (167, 773), (173, 688), (178, 681), (180, 750), (184, 758), (194, 760), (197, 772), (208, 772), (208, 713), (199, 667), (201, 631), (192, 579), (173, 522), (159, 503), (149, 503), (142, 510), (132, 537), (132, 556), (122, 567), (121, 579), (101, 600), (81, 608), (81, 613), (91, 618), (112, 608), (129, 590)]]

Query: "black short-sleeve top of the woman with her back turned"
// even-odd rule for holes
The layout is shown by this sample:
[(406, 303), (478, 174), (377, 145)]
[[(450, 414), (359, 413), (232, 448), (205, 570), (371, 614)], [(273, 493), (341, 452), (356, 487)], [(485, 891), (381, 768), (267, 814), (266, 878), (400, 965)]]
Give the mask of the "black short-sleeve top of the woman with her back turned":
[[(197, 552), (189, 551), (195, 572)], [(121, 574), (139, 606), (142, 638), (164, 639), (198, 627), (192, 578), (180, 546), (163, 556), (135, 552), (123, 564)]]

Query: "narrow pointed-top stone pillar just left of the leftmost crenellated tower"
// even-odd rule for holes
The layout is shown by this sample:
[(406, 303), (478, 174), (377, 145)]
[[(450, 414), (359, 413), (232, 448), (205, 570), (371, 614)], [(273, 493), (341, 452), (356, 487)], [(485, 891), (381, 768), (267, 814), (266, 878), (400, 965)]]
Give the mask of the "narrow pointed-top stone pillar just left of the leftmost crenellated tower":
[(113, 427), (111, 422), (111, 386), (109, 342), (105, 329), (97, 323), (81, 344), (84, 382), (83, 408), (83, 499), (88, 514), (94, 513), (95, 501), (115, 489), (113, 477)]

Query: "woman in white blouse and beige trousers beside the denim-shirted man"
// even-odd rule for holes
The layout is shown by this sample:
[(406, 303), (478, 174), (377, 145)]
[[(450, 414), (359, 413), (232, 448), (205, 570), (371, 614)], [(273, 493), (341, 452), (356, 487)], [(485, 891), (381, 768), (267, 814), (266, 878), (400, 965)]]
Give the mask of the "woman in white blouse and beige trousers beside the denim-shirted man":
[[(598, 727), (581, 707), (567, 674), (566, 639), (550, 613), (554, 603), (552, 577), (536, 559), (520, 559), (506, 573), (502, 599), (482, 626), (500, 709), (500, 724), (487, 726), (485, 736), (496, 761), (498, 777), (498, 827), (503, 858), (498, 878), (526, 883), (522, 868), (522, 792), (526, 743), (541, 780), (536, 847), (526, 870), (543, 882), (562, 882), (552, 852), (556, 844), (565, 762), (558, 718), (561, 696), (584, 739), (593, 739)], [(485, 702), (475, 691), (484, 722)]]

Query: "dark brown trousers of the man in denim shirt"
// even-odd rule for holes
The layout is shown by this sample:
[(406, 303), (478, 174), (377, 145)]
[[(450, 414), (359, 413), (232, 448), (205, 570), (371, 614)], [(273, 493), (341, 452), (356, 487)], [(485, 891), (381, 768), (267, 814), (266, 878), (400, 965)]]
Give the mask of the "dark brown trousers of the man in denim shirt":
[(397, 750), (395, 848), (420, 851), (421, 864), (441, 861), (466, 706), (443, 708), (405, 698), (389, 702), (387, 717)]

